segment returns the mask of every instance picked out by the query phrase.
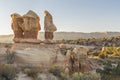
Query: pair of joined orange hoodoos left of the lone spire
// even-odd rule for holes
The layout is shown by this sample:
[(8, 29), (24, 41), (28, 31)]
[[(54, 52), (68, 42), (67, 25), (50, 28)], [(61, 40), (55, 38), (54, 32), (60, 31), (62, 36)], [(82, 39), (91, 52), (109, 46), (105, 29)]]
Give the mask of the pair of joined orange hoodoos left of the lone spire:
[(14, 42), (26, 42), (27, 39), (37, 40), (38, 31), (41, 30), (41, 27), (40, 18), (35, 12), (29, 10), (23, 16), (14, 13), (11, 14), (11, 18)]

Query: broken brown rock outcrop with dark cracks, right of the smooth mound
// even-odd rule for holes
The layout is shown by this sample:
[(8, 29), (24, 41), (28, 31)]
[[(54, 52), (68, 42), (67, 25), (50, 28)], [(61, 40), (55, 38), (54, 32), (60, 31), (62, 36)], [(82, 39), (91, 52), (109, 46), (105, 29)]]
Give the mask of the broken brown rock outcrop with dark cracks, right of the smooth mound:
[(74, 72), (88, 72), (93, 68), (87, 60), (87, 51), (85, 47), (75, 47), (72, 51), (67, 50), (66, 64), (70, 67), (70, 71)]

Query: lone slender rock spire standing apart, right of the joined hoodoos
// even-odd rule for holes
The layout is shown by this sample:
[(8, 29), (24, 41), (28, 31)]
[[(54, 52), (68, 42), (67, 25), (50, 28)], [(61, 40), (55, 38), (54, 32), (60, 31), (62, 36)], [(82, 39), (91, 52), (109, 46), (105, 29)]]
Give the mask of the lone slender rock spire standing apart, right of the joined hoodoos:
[(45, 39), (53, 40), (53, 32), (57, 30), (56, 26), (53, 23), (52, 15), (48, 11), (44, 11), (44, 30), (45, 30)]

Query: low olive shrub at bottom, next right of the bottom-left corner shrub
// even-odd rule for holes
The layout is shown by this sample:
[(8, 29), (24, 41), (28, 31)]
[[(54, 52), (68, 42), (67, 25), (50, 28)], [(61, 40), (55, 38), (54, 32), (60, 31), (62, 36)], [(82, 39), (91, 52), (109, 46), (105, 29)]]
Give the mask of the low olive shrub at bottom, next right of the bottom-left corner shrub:
[(32, 67), (32, 66), (26, 66), (26, 67), (22, 68), (22, 70), (25, 74), (27, 74), (27, 76), (29, 76), (33, 79), (37, 79), (38, 73), (41, 72), (40, 68)]

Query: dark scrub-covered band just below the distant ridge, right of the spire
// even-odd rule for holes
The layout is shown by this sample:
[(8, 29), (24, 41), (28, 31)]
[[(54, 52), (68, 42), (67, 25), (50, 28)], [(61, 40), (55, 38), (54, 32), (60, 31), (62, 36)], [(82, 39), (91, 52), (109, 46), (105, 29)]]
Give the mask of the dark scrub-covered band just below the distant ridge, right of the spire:
[(88, 38), (88, 39), (77, 39), (77, 40), (58, 40), (59, 43), (67, 43), (67, 44), (79, 44), (79, 45), (87, 45), (87, 46), (112, 46), (115, 44), (116, 46), (120, 46), (120, 36), (118, 37), (110, 37), (110, 38)]

